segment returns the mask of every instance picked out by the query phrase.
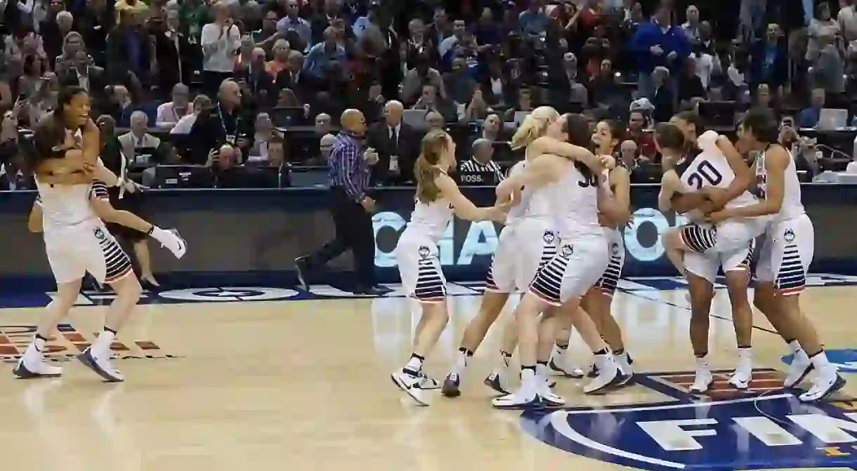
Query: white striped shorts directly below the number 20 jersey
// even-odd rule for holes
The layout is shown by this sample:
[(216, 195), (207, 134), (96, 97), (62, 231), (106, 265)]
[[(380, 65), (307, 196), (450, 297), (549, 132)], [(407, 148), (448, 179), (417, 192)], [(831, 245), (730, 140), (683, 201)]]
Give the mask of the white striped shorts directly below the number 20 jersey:
[(734, 253), (764, 234), (769, 218), (729, 219), (712, 228), (708, 224), (688, 224), (681, 228), (681, 240), (697, 253)]

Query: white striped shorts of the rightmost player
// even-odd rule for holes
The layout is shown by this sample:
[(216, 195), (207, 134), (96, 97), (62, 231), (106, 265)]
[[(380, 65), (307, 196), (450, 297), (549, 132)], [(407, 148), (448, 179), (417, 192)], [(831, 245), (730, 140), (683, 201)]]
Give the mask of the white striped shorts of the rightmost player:
[(797, 295), (806, 286), (814, 252), (815, 231), (809, 216), (803, 214), (772, 223), (764, 234), (756, 278), (760, 282), (773, 282), (782, 295)]

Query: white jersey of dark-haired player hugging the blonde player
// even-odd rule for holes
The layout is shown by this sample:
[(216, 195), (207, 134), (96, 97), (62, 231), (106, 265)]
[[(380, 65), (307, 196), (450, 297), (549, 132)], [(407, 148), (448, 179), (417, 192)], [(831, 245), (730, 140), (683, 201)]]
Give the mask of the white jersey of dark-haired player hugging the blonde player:
[(548, 186), (560, 239), (603, 236), (598, 224), (598, 184), (590, 182), (571, 162), (558, 182)]

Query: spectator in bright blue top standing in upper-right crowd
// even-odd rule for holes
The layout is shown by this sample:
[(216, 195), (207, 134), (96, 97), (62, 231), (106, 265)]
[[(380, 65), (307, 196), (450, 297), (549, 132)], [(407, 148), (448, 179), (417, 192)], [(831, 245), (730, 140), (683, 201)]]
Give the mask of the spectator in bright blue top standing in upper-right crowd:
[[(685, 57), (691, 54), (691, 44), (681, 27), (673, 26), (670, 9), (661, 8), (649, 23), (641, 24), (631, 39), (630, 49), (637, 57), (639, 92), (643, 98), (653, 98), (655, 86), (651, 73), (656, 67), (669, 69), (671, 77), (678, 77)], [(670, 84), (670, 88), (675, 87)]]

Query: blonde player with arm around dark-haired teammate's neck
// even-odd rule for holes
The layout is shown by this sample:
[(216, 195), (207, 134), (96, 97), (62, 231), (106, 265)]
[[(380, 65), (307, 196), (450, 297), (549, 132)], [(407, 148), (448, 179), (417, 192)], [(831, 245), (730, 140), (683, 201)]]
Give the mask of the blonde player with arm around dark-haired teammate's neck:
[[(512, 167), (511, 176), (517, 176), (523, 171), (527, 162), (538, 155), (537, 152), (550, 152), (570, 159), (580, 158), (592, 164), (594, 158), (591, 153), (587, 155), (581, 152), (578, 146), (571, 146), (561, 141), (566, 140), (566, 135), (560, 127), (554, 126), (554, 123), (559, 122), (559, 118), (560, 114), (548, 106), (539, 107), (527, 116), (512, 137), (512, 148), (525, 148), (526, 151), (524, 161)], [(485, 338), (488, 328), (502, 312), (509, 295), (513, 291), (525, 291), (536, 276), (539, 266), (553, 257), (556, 250), (554, 246), (556, 236), (549, 206), (545, 192), (536, 194), (524, 188), (521, 200), (509, 212), (506, 227), (500, 232), (500, 241), (494, 252), (491, 268), (488, 270), (482, 306), (464, 330), (461, 347), (458, 349), (458, 359), (452, 367), (452, 372), (444, 381), (445, 396), (454, 397), (460, 394), (460, 376), (464, 373), (470, 357), (474, 355)], [(518, 343), (515, 323), (512, 322), (507, 327), (500, 349), (500, 356), (506, 367)], [(494, 391), (507, 394), (498, 370), (485, 379), (485, 384)], [(582, 375), (583, 373), (580, 372), (579, 376)]]

